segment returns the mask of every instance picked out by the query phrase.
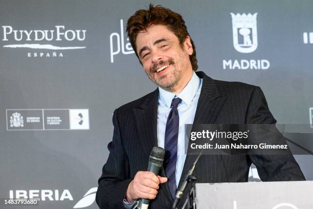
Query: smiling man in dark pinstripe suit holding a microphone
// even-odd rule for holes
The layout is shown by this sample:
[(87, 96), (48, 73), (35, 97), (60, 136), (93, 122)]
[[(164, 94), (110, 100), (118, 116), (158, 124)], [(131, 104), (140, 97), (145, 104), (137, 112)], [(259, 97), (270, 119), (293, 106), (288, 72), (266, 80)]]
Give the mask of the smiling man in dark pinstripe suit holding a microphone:
[[(96, 201), (100, 208), (132, 208), (145, 198), (150, 208), (170, 208), (181, 176), (196, 157), (184, 152), (185, 124), (276, 120), (259, 87), (195, 72), (195, 47), (180, 14), (150, 5), (128, 19), (127, 34), (159, 88), (115, 110), (113, 141)], [(150, 151), (157, 145), (166, 150), (163, 177), (146, 171)], [(203, 155), (194, 174), (199, 182), (244, 182), (251, 163), (262, 181), (304, 180), (292, 155)]]

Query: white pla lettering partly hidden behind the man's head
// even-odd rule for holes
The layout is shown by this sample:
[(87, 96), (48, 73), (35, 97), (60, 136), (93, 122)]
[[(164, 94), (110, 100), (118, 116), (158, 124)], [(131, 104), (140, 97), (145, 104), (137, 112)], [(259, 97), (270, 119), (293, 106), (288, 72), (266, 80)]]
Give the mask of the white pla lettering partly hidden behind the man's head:
[[(135, 53), (131, 47), (130, 43), (127, 43), (124, 45), (124, 27), (123, 27), (123, 19), (120, 20), (120, 33), (111, 33), (110, 34), (110, 55), (111, 55), (111, 63), (114, 62), (114, 56), (119, 54), (121, 52), (122, 48), (122, 53), (123, 54), (132, 54)], [(114, 46), (114, 37), (116, 37), (116, 47)], [(129, 38), (127, 38), (127, 41), (129, 41)], [(125, 49), (127, 51), (125, 51)]]

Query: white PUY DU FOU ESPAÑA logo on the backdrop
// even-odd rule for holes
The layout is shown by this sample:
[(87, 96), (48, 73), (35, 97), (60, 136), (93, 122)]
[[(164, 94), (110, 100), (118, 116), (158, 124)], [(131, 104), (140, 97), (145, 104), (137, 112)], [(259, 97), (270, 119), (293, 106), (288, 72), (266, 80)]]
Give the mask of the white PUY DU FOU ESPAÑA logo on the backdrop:
[[(14, 43), (4, 45), (4, 48), (32, 49), (31, 52), (27, 52), (28, 57), (63, 57), (62, 52), (57, 53), (56, 51), (86, 48), (85, 46), (64, 47), (48, 44), (50, 41), (54, 43), (62, 41), (62, 44), (68, 45), (68, 41), (85, 40), (86, 30), (67, 30), (65, 26), (55, 26), (52, 30), (16, 30), (12, 26), (2, 26), (2, 35), (2, 41)], [(42, 51), (47, 49), (53, 51)], [(34, 50), (37, 51), (33, 52)]]

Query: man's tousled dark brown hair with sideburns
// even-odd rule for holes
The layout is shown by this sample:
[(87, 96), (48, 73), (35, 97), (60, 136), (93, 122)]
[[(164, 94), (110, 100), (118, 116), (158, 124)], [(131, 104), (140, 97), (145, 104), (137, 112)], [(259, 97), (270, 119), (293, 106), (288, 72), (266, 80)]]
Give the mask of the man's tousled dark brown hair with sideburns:
[[(176, 37), (180, 41), (180, 45), (182, 48), (187, 36), (190, 37), (187, 31), (187, 27), (185, 25), (185, 21), (180, 14), (173, 12), (170, 9), (164, 8), (161, 5), (153, 6), (152, 4), (150, 4), (149, 9), (138, 10), (127, 20), (126, 32), (129, 37), (130, 44), (135, 51), (138, 59), (139, 56), (136, 51), (137, 35), (140, 31), (146, 30), (151, 25), (166, 26), (171, 32), (176, 35)], [(196, 71), (198, 69), (198, 65), (195, 46), (191, 38), (190, 41), (193, 48), (193, 53), (189, 55), (189, 59), (192, 69)]]

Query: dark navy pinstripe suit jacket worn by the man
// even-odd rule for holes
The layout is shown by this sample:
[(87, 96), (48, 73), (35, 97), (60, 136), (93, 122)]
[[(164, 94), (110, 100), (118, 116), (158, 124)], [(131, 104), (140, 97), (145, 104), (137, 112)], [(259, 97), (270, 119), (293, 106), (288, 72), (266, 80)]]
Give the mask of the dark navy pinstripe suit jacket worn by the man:
[[(214, 80), (203, 72), (197, 75), (203, 78), (203, 86), (194, 124), (276, 123), (259, 87)], [(151, 149), (158, 145), (158, 93), (157, 89), (114, 112), (113, 141), (108, 144), (110, 154), (103, 166), (96, 197), (102, 209), (123, 208), (129, 182), (138, 171), (147, 170)], [(187, 155), (182, 177), (195, 157)], [(199, 182), (244, 182), (248, 181), (251, 163), (256, 165), (262, 181), (305, 180), (292, 155), (203, 155), (194, 174)], [(167, 183), (161, 184), (157, 198), (150, 201), (150, 208), (170, 208), (172, 201)]]

